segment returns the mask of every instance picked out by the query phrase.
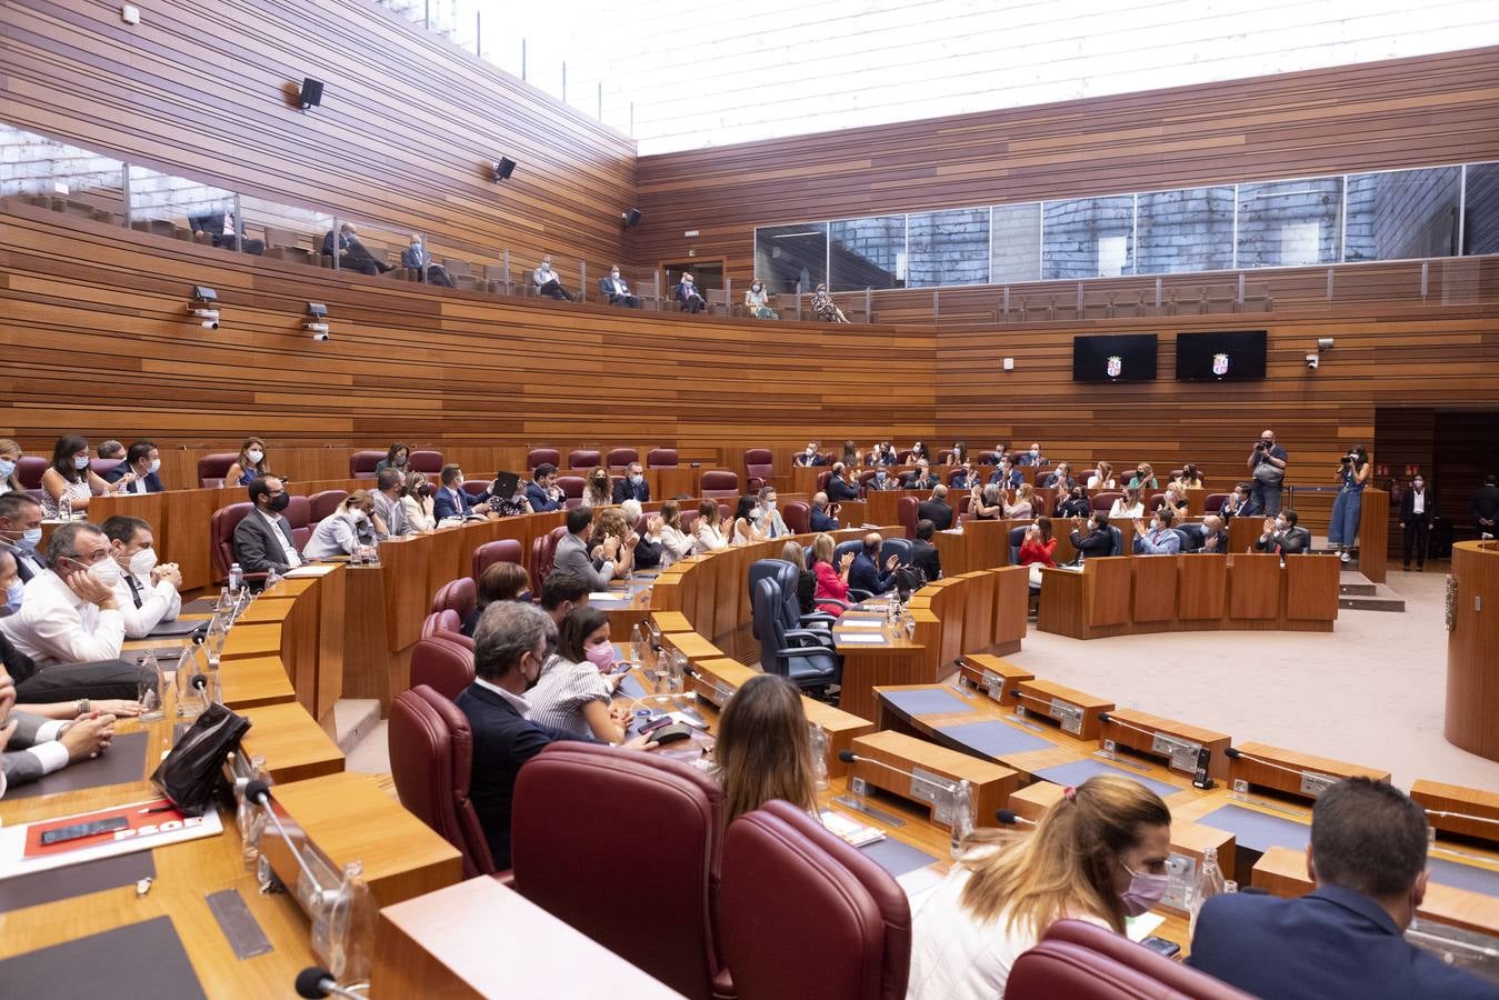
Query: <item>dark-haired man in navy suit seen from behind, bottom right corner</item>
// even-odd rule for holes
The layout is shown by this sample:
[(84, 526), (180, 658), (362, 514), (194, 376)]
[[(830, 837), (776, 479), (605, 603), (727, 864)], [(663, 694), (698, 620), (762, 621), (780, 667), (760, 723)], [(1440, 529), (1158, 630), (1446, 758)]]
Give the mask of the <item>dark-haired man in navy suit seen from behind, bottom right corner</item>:
[(1256, 997), (1406, 1000), (1493, 997), (1402, 934), (1426, 898), (1426, 813), (1385, 781), (1345, 778), (1312, 808), (1316, 891), (1210, 898), (1187, 964)]

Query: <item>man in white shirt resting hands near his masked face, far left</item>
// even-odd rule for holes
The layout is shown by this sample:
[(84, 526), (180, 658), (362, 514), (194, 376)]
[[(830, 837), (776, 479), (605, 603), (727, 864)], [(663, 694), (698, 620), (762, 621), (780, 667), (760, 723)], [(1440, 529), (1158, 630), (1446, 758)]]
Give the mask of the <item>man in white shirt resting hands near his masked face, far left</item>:
[(115, 585), (120, 564), (96, 525), (61, 525), (46, 544), (49, 568), (25, 585), (21, 610), (0, 630), (39, 667), (118, 660), (124, 616)]

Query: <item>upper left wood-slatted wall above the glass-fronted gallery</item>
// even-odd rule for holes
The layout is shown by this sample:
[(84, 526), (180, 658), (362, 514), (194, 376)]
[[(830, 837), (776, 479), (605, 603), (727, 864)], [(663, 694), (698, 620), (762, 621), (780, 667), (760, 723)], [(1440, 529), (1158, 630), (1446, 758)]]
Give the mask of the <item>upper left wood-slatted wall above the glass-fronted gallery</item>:
[[(0, 4), (0, 120), (435, 246), (591, 271), (621, 255), (634, 141), (361, 0)], [(303, 76), (324, 103), (295, 106)], [(496, 184), (487, 165), (519, 160)], [(252, 219), (253, 222), (253, 219)], [(571, 271), (576, 273), (576, 271)], [(597, 273), (597, 271), (594, 271)]]

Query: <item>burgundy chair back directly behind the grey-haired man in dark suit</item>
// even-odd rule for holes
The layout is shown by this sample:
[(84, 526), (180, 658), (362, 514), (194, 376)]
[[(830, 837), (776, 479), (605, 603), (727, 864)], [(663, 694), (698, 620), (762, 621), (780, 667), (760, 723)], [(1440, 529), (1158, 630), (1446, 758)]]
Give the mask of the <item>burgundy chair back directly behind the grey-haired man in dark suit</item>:
[(463, 855), (463, 877), (495, 874), (484, 828), (469, 801), (474, 735), (451, 700), (418, 685), (390, 706), (390, 772), (400, 804)]

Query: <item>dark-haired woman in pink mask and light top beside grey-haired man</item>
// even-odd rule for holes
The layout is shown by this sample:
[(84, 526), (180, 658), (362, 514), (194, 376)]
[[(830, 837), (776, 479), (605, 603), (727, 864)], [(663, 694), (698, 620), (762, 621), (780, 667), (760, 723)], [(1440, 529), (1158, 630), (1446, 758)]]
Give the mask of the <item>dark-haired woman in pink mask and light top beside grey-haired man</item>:
[(622, 744), (631, 712), (625, 703), (610, 705), (619, 678), (609, 636), (609, 616), (595, 607), (574, 607), (558, 627), (558, 651), (541, 667), (537, 687), (526, 693), (526, 718), (574, 739)]

